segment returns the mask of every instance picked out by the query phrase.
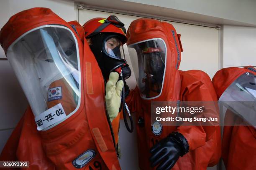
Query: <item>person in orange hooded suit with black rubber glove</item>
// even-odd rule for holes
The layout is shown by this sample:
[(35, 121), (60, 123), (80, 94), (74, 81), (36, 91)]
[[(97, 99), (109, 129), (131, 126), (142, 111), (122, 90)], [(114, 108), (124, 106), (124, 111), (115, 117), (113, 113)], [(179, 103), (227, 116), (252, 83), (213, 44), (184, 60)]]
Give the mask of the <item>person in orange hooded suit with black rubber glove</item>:
[[(166, 22), (134, 20), (127, 46), (137, 87), (126, 102), (136, 112), (138, 157), (141, 170), (205, 170), (220, 158), (218, 124), (163, 125), (152, 121), (151, 107), (159, 101), (215, 101), (210, 77), (200, 70), (181, 71), (180, 35)], [(202, 117), (218, 117), (218, 105), (205, 107)], [(180, 115), (181, 113), (179, 113)], [(178, 116), (175, 112), (174, 116)]]

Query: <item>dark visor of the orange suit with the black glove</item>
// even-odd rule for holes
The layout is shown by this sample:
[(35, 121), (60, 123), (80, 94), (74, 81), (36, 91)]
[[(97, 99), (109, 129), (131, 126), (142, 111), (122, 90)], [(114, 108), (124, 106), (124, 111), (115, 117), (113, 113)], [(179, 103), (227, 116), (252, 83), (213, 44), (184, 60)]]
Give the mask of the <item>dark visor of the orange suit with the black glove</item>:
[(128, 45), (136, 81), (144, 99), (161, 95), (164, 84), (166, 45), (160, 38)]

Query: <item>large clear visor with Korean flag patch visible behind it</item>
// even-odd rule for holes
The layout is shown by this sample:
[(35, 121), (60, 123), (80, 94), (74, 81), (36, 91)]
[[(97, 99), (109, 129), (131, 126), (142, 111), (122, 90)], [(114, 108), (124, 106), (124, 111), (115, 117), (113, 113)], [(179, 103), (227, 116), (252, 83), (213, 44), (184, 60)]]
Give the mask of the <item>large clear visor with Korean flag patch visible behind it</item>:
[[(35, 115), (38, 130), (58, 124), (55, 120), (64, 121), (78, 109), (79, 52), (69, 28), (60, 25), (34, 28), (13, 42), (7, 57)], [(61, 109), (65, 116), (56, 117), (59, 113), (51, 113), (51, 119), (41, 116), (52, 112), (51, 108)]]

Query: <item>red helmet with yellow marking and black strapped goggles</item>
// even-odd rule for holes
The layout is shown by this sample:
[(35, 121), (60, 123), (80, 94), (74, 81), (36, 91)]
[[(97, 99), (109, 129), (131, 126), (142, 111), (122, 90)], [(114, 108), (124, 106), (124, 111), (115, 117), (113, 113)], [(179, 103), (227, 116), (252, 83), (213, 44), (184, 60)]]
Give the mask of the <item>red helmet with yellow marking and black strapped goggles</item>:
[(115, 15), (110, 15), (107, 19), (92, 18), (83, 25), (83, 28), (86, 38), (96, 35), (100, 32), (113, 32), (123, 37), (123, 44), (125, 44), (127, 41), (124, 24)]

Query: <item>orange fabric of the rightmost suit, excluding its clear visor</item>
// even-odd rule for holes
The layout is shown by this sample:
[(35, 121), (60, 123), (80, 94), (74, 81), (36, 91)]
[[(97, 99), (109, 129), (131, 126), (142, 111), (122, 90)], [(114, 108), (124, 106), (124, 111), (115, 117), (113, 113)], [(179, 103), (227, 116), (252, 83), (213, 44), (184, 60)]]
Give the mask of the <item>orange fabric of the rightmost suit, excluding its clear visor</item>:
[[(228, 67), (219, 70), (213, 77), (218, 99), (222, 93), (242, 74), (250, 72), (256, 75), (256, 69), (248, 66), (244, 68)], [(233, 112), (227, 110), (225, 120), (239, 124), (243, 120), (234, 117)], [(230, 122), (230, 123), (231, 123)], [(226, 170), (255, 170), (256, 169), (256, 130), (252, 126), (224, 126), (222, 140), (222, 158)]]

